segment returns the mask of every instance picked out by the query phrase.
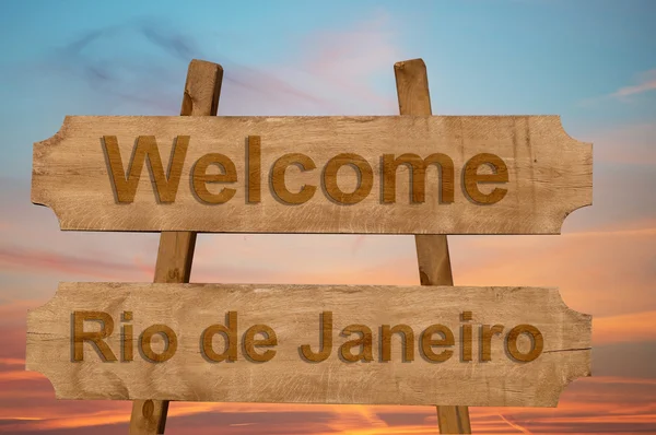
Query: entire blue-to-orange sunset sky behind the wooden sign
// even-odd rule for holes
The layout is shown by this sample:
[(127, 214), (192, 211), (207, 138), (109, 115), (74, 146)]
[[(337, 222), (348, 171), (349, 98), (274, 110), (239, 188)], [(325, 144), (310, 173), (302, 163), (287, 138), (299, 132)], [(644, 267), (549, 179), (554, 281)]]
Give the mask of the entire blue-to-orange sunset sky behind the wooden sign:
[[(593, 376), (558, 408), (471, 408), (475, 433), (656, 433), (656, 1), (0, 1), (0, 433), (127, 433), (130, 402), (56, 400), (25, 372), (59, 281), (152, 281), (157, 234), (60, 232), (32, 144), (66, 115), (179, 115), (188, 63), (219, 115), (398, 115), (422, 58), (435, 115), (560, 115), (593, 143), (593, 205), (558, 236), (449, 236), (456, 285), (560, 287)], [(192, 282), (419, 284), (412, 236), (199, 236)], [(167, 434), (434, 434), (432, 407), (172, 403)]]

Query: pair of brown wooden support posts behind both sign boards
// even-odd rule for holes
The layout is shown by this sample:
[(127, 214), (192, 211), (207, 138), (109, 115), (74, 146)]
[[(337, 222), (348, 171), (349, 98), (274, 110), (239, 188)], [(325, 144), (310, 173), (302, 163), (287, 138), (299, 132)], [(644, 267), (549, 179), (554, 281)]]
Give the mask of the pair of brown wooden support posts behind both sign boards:
[[(422, 59), (394, 66), (400, 115), (432, 115), (426, 67)], [(192, 60), (187, 73), (181, 116), (215, 116), (223, 69)], [(445, 235), (417, 235), (417, 257), (422, 285), (454, 285)], [(160, 237), (154, 282), (189, 282), (196, 233), (165, 232)], [(437, 404), (437, 403), (436, 403)], [(163, 434), (167, 401), (138, 400), (132, 404), (131, 435)], [(467, 407), (436, 407), (440, 433), (470, 434)]]

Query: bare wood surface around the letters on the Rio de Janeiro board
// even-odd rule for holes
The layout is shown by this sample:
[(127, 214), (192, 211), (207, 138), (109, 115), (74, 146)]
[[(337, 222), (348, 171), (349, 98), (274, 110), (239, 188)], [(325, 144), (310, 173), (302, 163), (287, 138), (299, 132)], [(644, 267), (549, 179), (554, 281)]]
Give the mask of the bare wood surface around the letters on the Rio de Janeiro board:
[[(118, 361), (103, 362), (90, 342), (82, 343), (84, 360), (72, 361), (72, 313), (82, 310), (112, 316), (114, 332), (106, 343)], [(131, 320), (121, 318), (124, 311)], [(201, 354), (201, 336), (212, 325), (226, 325), (227, 311), (238, 316), (236, 361), (211, 362)], [(304, 361), (301, 345), (319, 350), (323, 311), (332, 313), (332, 352), (323, 362)], [(471, 321), (465, 311), (472, 313)], [(340, 336), (351, 324), (371, 328), (372, 361), (339, 357), (344, 342), (361, 338)], [(390, 360), (383, 362), (379, 328), (400, 324), (413, 330), (414, 356), (401, 362), (401, 334), (394, 333)], [(433, 348), (436, 354), (453, 350), (444, 362), (429, 361), (420, 350), (421, 332), (434, 324), (455, 337), (454, 346)], [(535, 342), (542, 341), (543, 349), (535, 360), (518, 362), (505, 343), (511, 329), (525, 324), (539, 329), (542, 340)], [(26, 365), (46, 375), (62, 399), (554, 407), (569, 381), (589, 376), (590, 324), (590, 316), (565, 306), (557, 289), (60, 283), (50, 302), (28, 313)], [(168, 361), (153, 363), (136, 346), (133, 361), (122, 362), (124, 325), (132, 326), (134, 343), (145, 328), (164, 325), (176, 333), (177, 349)], [(268, 362), (244, 356), (245, 332), (254, 325), (276, 333), (274, 348), (256, 349), (276, 351)], [(472, 326), (471, 346), (461, 343), (462, 325)], [(505, 328), (491, 337), (489, 352), (481, 346), (481, 325)], [(99, 331), (101, 322), (87, 321), (82, 329)], [(210, 341), (214, 352), (223, 351), (220, 336)], [(528, 353), (531, 342), (520, 334), (518, 352)], [(152, 343), (153, 352), (164, 352), (161, 336)], [(467, 360), (466, 349), (471, 361), (460, 361)], [(491, 361), (481, 361), (483, 355)]]

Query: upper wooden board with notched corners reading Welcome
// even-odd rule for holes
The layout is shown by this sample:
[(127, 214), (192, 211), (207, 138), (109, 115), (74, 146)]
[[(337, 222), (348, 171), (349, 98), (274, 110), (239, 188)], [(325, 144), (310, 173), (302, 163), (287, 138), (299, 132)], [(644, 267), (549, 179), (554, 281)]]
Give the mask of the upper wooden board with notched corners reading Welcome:
[(67, 117), (32, 201), (61, 230), (559, 234), (591, 186), (558, 116)]

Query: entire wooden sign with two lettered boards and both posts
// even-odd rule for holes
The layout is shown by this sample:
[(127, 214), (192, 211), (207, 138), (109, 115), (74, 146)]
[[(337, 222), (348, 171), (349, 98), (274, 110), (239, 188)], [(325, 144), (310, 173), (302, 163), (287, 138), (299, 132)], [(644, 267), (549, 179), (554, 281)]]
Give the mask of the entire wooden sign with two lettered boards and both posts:
[[(590, 374), (590, 316), (555, 289), (454, 287), (445, 234), (559, 234), (591, 203), (591, 145), (558, 116), (432, 116), (421, 59), (389, 117), (215, 117), (189, 64), (184, 117), (67, 117), (34, 144), (32, 200), (61, 230), (162, 232), (155, 284), (61, 283), (26, 364), (58, 398), (554, 407)], [(414, 234), (422, 286), (184, 284), (198, 232)], [(99, 297), (102, 295), (102, 297)]]

